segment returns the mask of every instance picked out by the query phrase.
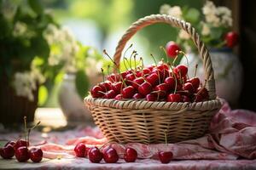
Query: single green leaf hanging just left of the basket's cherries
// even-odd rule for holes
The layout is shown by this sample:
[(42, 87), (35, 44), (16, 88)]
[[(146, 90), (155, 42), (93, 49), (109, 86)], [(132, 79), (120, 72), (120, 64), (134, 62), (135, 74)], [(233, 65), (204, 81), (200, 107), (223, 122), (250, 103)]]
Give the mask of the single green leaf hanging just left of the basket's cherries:
[(83, 70), (76, 73), (76, 88), (79, 96), (83, 99), (90, 87), (90, 82)]

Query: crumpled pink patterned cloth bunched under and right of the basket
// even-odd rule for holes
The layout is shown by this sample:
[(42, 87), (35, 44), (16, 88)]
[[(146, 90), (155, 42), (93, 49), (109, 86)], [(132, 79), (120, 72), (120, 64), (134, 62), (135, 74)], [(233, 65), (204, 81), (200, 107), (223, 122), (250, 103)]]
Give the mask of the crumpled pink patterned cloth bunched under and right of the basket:
[[(160, 150), (170, 150), (174, 159), (212, 159), (212, 160), (234, 160), (238, 157), (247, 159), (256, 158), (256, 113), (246, 110), (230, 109), (227, 102), (222, 100), (223, 106), (213, 117), (209, 127), (209, 133), (199, 139), (183, 141), (177, 144), (106, 144), (107, 139), (101, 137), (96, 128), (87, 128), (90, 136), (67, 139), (66, 144), (41, 144), (44, 157), (56, 158), (73, 157), (75, 144), (84, 143), (91, 147), (101, 146), (102, 150), (111, 145), (123, 156), (126, 147), (132, 147), (138, 152), (139, 158), (157, 158)], [(94, 133), (90, 132), (93, 131)]]

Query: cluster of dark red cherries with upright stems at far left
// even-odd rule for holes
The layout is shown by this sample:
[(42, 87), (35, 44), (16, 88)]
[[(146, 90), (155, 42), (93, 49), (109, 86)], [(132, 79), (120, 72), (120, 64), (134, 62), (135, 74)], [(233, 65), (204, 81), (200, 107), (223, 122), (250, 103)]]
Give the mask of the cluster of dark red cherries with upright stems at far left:
[[(39, 123), (40, 122), (38, 122), (38, 124)], [(37, 127), (38, 124), (34, 127)], [(34, 127), (32, 127), (31, 129), (33, 129)], [(43, 151), (40, 148), (32, 147), (28, 149), (28, 139), (31, 129), (29, 129), (28, 133), (26, 134), (26, 140), (19, 139), (16, 142), (9, 141), (3, 146), (3, 148), (0, 148), (0, 156), (2, 156), (3, 159), (11, 159), (13, 156), (15, 156), (17, 161), (20, 162), (25, 162), (29, 159), (31, 159), (33, 162), (41, 161), (43, 159)]]

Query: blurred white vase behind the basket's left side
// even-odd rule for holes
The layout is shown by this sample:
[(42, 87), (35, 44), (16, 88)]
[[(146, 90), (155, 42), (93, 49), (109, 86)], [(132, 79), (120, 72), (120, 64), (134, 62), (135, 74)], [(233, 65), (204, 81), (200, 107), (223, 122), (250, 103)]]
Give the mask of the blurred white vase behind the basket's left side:
[(64, 76), (58, 97), (68, 124), (91, 121), (90, 112), (77, 93), (74, 74), (68, 73)]

